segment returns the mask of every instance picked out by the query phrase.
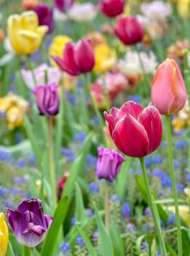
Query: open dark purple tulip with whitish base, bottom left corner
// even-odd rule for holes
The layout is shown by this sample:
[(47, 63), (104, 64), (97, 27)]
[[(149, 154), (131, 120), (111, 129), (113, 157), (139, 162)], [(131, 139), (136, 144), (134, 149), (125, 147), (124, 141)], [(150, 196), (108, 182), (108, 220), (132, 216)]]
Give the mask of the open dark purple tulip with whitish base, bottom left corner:
[(52, 223), (52, 217), (44, 214), (41, 200), (25, 200), (17, 210), (8, 209), (8, 224), (17, 241), (28, 247), (35, 247), (44, 240)]

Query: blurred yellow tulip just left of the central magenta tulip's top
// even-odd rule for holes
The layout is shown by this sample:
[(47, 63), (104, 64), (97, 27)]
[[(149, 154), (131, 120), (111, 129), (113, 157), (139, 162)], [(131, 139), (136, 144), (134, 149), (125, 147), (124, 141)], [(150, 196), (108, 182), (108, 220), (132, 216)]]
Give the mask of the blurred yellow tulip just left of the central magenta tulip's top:
[(54, 37), (48, 50), (50, 57), (58, 56), (63, 57), (63, 50), (68, 42), (71, 42), (71, 38), (66, 35), (58, 35)]

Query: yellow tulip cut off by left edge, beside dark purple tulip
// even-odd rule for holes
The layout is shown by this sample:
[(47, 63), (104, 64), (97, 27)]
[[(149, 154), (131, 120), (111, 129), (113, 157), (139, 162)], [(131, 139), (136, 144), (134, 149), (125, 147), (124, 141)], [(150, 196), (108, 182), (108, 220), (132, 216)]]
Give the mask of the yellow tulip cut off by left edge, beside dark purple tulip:
[(7, 253), (7, 246), (9, 241), (9, 231), (6, 222), (4, 221), (4, 214), (0, 213), (0, 255), (5, 256)]

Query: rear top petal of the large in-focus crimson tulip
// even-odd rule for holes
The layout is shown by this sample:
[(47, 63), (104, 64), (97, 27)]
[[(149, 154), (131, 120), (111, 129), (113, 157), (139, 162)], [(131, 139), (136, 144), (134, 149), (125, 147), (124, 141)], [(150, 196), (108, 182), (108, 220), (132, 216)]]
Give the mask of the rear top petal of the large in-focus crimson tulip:
[(120, 108), (116, 114), (116, 122), (119, 121), (125, 114), (129, 114), (137, 120), (142, 111), (143, 107), (138, 103), (132, 101), (125, 102), (124, 105), (122, 105), (122, 108)]

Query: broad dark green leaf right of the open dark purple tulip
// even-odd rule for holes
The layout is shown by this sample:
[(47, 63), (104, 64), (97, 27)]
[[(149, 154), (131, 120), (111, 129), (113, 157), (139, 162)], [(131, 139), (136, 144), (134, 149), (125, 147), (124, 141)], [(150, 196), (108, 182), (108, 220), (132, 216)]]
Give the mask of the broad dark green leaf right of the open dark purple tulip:
[(59, 230), (62, 227), (63, 222), (66, 218), (68, 206), (68, 197), (63, 197), (58, 203), (57, 208), (55, 209), (52, 225), (50, 226), (50, 230), (48, 230), (47, 236), (42, 245), (41, 256), (55, 255), (55, 246), (57, 245)]

